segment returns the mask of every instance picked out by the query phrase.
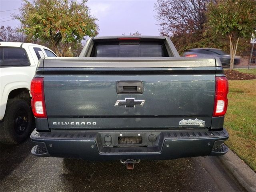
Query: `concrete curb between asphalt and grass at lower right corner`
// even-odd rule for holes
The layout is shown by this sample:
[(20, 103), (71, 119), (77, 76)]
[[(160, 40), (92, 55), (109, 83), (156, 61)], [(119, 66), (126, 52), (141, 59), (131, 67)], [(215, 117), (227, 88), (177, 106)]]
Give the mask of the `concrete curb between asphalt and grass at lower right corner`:
[(218, 156), (218, 159), (246, 190), (256, 192), (256, 173), (234, 152), (229, 150), (225, 155)]

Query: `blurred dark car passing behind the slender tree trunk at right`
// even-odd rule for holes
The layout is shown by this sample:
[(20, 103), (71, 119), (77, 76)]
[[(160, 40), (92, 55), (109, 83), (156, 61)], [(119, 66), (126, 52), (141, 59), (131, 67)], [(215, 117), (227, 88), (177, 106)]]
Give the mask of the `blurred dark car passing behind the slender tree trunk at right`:
[[(214, 56), (220, 58), (223, 67), (230, 66), (230, 55), (226, 52), (215, 49), (215, 48), (194, 48), (184, 52), (183, 56), (185, 57), (208, 57)], [(240, 63), (240, 57), (236, 56), (234, 64), (237, 65)]]

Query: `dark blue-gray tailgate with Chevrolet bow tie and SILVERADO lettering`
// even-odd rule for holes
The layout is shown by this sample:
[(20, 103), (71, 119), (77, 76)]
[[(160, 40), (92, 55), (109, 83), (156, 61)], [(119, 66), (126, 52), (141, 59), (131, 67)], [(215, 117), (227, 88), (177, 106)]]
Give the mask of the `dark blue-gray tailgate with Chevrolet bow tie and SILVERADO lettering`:
[[(125, 68), (120, 62), (86, 65), (81, 61), (73, 62), (72, 68), (46, 62), (44, 94), (49, 128), (210, 127), (216, 67), (215, 60), (209, 60), (168, 60), (161, 61), (162, 66), (148, 60), (147, 68), (140, 64), (134, 68), (131, 62)], [(142, 93), (118, 94), (118, 82), (141, 82)]]

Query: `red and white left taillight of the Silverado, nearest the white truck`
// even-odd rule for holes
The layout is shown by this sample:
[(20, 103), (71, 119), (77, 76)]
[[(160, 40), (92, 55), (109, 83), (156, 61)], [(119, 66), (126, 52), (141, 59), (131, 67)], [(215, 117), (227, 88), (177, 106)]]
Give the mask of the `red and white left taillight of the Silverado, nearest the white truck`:
[(31, 106), (35, 117), (47, 118), (44, 102), (44, 78), (34, 77), (31, 82)]

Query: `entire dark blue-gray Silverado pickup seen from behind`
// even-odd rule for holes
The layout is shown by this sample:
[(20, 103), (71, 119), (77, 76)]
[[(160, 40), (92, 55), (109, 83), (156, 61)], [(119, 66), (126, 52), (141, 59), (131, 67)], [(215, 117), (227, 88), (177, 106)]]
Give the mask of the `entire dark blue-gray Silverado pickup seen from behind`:
[(228, 80), (219, 58), (180, 57), (170, 38), (90, 38), (44, 58), (31, 83), (32, 154), (85, 160), (223, 155)]

